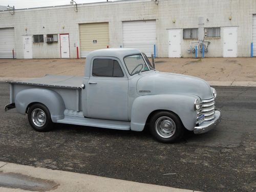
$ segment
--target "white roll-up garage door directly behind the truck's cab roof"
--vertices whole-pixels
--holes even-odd
[[[154,53],[156,20],[123,22],[123,47],[137,48],[147,56]]]

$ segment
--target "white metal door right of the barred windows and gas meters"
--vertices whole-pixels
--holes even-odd
[[[237,57],[238,55],[238,28],[223,28],[223,57]]]

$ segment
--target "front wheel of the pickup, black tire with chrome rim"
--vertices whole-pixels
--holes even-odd
[[[176,114],[162,111],[152,116],[150,132],[160,142],[173,143],[183,137],[184,126]]]

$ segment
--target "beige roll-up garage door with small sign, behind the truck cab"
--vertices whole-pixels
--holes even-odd
[[[109,46],[109,23],[79,24],[81,57]]]

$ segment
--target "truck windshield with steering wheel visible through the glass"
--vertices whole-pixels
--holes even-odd
[[[149,71],[141,54],[130,55],[124,57],[125,66],[130,75],[141,73],[143,71]],[[147,59],[148,60],[148,59]]]

